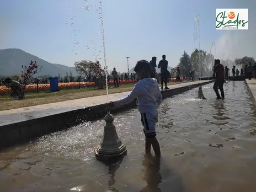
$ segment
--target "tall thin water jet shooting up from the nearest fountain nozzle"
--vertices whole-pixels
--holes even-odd
[[[108,88],[108,68],[106,66],[106,50],[105,50],[105,38],[104,38],[104,23],[103,23],[103,14],[102,14],[102,1],[99,1],[99,19],[102,24],[100,33],[102,34],[102,44],[103,44],[103,53],[104,53],[104,70],[106,76],[106,96],[108,97],[109,102],[109,88]]]

